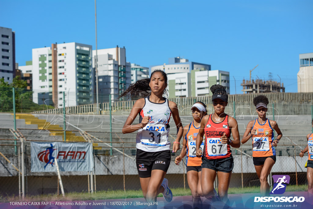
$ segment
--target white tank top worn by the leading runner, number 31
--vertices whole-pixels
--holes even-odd
[[[163,97],[164,98],[164,97]],[[163,103],[154,103],[145,97],[145,105],[140,115],[139,123],[142,118],[149,116],[149,123],[138,130],[136,136],[136,148],[146,152],[159,152],[170,150],[171,143],[168,141],[170,131],[169,121],[172,114],[168,106],[168,100],[164,98]]]

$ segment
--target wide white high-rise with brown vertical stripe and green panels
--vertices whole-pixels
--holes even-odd
[[[52,44],[32,50],[33,102],[69,106],[94,102],[92,46],[79,43]]]

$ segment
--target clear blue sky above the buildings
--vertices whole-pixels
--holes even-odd
[[[0,26],[16,32],[16,62],[33,48],[58,42],[95,49],[94,1],[0,0]],[[98,49],[126,47],[142,66],[181,56],[230,72],[231,94],[249,70],[260,79],[279,75],[297,91],[299,54],[313,52],[313,1],[97,1]]]

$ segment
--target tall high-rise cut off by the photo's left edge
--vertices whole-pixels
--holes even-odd
[[[0,27],[0,78],[12,83],[15,74],[15,32]]]

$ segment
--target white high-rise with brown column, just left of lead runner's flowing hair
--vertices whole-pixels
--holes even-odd
[[[131,63],[126,62],[126,49],[116,46],[110,49],[98,50],[98,88],[99,103],[116,101],[119,93],[125,91],[131,84]],[[96,50],[92,51],[93,67],[96,63]],[[123,100],[123,98],[121,98]]]

